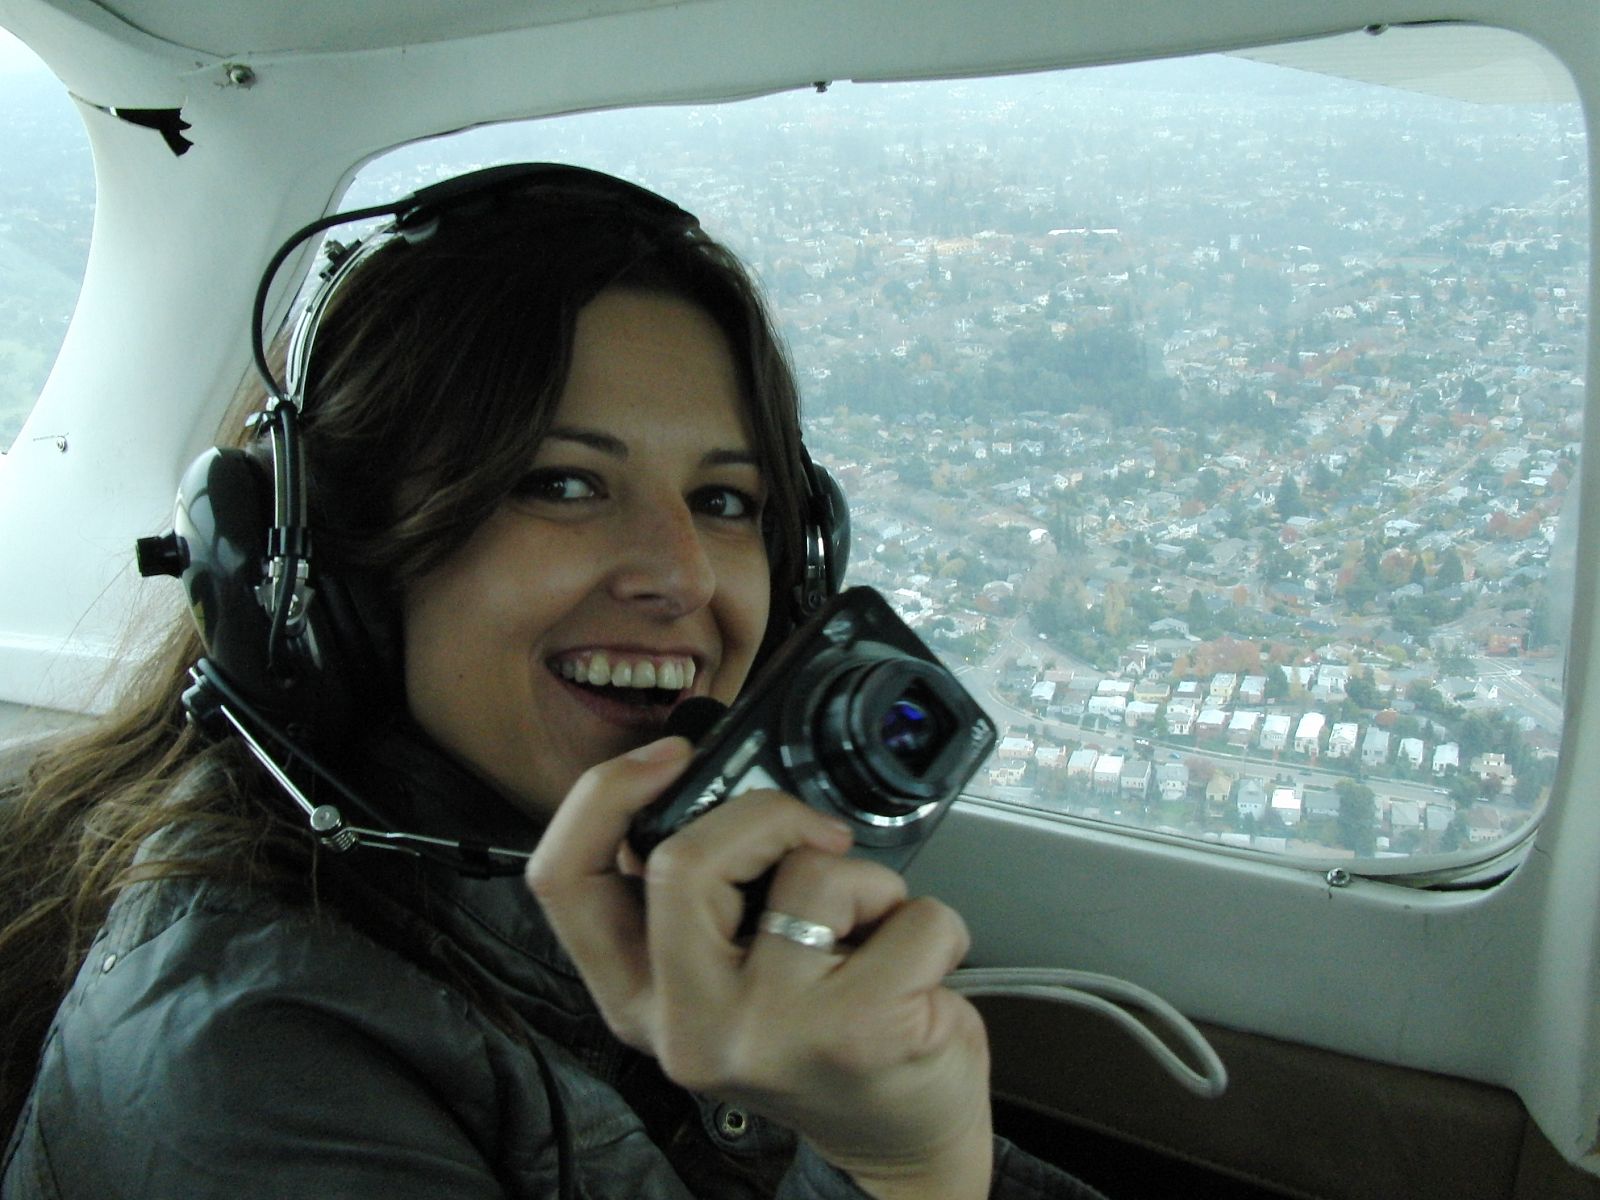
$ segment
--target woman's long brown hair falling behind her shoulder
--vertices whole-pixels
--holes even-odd
[[[792,370],[738,259],[698,227],[662,237],[538,189],[366,256],[323,315],[304,446],[323,570],[360,576],[371,621],[461,546],[526,472],[566,382],[579,309],[610,286],[682,296],[739,365],[770,493],[774,621],[802,558],[805,477]],[[246,442],[235,403],[224,440]],[[395,645],[395,630],[376,630]],[[106,717],[35,755],[0,803],[0,1130],[112,901],[182,874],[288,886],[310,843],[235,742],[206,742],[181,694],[203,646],[184,618]],[[395,664],[398,677],[398,664]],[[182,859],[136,854],[186,826]]]

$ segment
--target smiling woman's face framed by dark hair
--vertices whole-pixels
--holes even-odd
[[[600,293],[528,475],[405,595],[411,715],[549,816],[677,699],[738,694],[766,627],[765,496],[715,322]]]

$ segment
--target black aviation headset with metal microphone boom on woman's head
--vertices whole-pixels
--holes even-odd
[[[251,318],[251,352],[267,400],[251,424],[270,448],[270,469],[250,450],[213,448],[184,472],[173,530],[142,538],[139,573],[182,579],[205,656],[184,693],[190,720],[213,734],[240,734],[251,754],[304,810],[330,848],[381,845],[443,858],[467,874],[520,870],[528,851],[443,842],[418,834],[347,826],[331,805],[314,805],[296,784],[299,768],[331,786],[379,824],[382,818],[317,762],[312,744],[334,746],[370,718],[371,693],[398,694],[400,651],[392,621],[357,573],[314,560],[307,514],[306,450],[299,432],[312,347],[328,306],[352,272],[395,242],[422,243],[446,221],[469,221],[496,198],[547,195],[550,203],[592,205],[645,245],[698,230],[698,219],[654,192],[610,174],[558,163],[514,163],[424,187],[386,205],[334,213],[296,230],[262,272]],[[280,384],[266,350],[264,314],[283,262],[307,238],[334,226],[390,218],[349,246],[328,243],[330,264],[298,317]],[[650,254],[643,250],[640,258]],[[838,590],[850,554],[850,515],[834,478],[800,450],[803,563],[800,582],[774,587],[776,632],[802,624]],[[314,565],[315,563],[315,565]],[[374,688],[376,683],[376,688]]]

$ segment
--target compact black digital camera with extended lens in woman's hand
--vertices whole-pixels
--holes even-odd
[[[902,870],[995,744],[994,722],[878,592],[832,597],[699,741],[678,782],[629,827],[645,858],[725,800],[774,787]]]

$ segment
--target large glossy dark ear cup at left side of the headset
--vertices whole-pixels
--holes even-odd
[[[363,610],[374,605],[326,573],[310,581],[304,621],[269,662],[270,525],[272,480],[254,454],[208,450],[184,472],[173,533],[206,658],[261,712],[331,744],[392,702],[398,670],[368,634]],[[379,632],[389,626],[378,613],[370,619]]]

